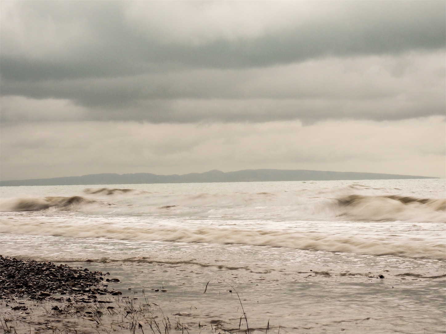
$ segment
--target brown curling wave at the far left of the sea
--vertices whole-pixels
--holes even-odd
[[[73,211],[94,204],[106,205],[102,201],[82,196],[19,198],[3,201],[1,211]]]

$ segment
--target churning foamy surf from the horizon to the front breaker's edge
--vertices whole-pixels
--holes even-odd
[[[91,188],[1,187],[1,232],[446,257],[442,180]]]

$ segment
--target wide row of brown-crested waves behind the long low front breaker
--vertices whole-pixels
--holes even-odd
[[[84,189],[91,197],[2,199],[1,211],[85,211],[215,220],[446,222],[446,199],[363,195],[380,189],[354,184],[335,190],[156,193],[128,188]],[[108,200],[112,200],[108,202]]]

